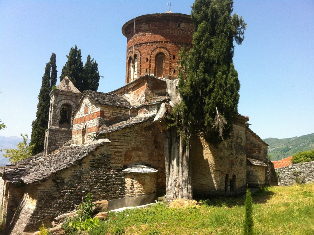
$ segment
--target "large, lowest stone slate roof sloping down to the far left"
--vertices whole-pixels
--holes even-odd
[[[67,146],[61,148],[55,154],[43,157],[43,153],[31,156],[15,164],[4,167],[6,180],[16,182],[22,180],[25,183],[38,183],[50,178],[66,168],[77,165],[84,157],[94,152],[108,139],[99,139],[85,145]]]

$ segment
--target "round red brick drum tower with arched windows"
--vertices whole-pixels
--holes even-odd
[[[126,84],[146,74],[173,79],[181,46],[192,48],[194,25],[186,14],[148,14],[129,20],[122,33],[127,37]]]

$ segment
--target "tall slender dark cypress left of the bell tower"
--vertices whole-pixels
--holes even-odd
[[[30,145],[35,145],[31,149],[33,155],[40,153],[44,150],[45,132],[48,128],[49,119],[49,93],[57,82],[57,65],[56,54],[52,52],[50,61],[46,63],[45,73],[41,80],[41,89],[38,95],[38,104],[36,119],[32,123],[32,134]]]

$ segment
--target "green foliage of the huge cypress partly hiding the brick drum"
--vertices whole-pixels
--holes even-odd
[[[232,130],[237,114],[240,83],[233,65],[233,41],[241,44],[246,23],[233,11],[231,0],[196,0],[191,18],[195,25],[193,48],[181,50],[177,107],[186,135],[202,132],[218,144]]]

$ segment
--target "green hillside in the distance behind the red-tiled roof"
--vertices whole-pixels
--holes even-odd
[[[314,133],[286,139],[267,138],[263,141],[269,145],[268,155],[272,161],[293,156],[300,151],[314,149]]]

